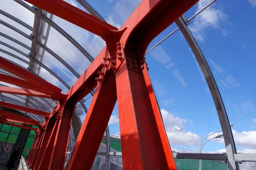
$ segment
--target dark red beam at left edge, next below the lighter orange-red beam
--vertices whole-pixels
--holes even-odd
[[[0,101],[0,106],[6,107],[6,108],[16,109],[18,111],[29,112],[29,113],[33,113],[33,114],[37,114],[37,115],[41,115],[41,116],[49,116],[50,115],[47,112],[38,111],[38,110],[35,110],[35,109],[26,108],[26,107],[23,107],[23,106],[14,105],[14,104],[11,104],[11,103],[1,102],[1,101]]]

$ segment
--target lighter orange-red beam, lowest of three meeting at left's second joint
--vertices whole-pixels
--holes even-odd
[[[19,94],[24,96],[35,96],[35,97],[43,97],[43,98],[49,98],[49,99],[51,98],[49,93],[44,94],[38,91],[29,90],[29,89],[11,88],[11,87],[5,87],[5,86],[0,86],[0,93]]]

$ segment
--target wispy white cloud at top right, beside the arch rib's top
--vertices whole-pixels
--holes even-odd
[[[211,0],[200,0],[195,13],[207,6],[210,2]],[[217,8],[213,4],[195,17],[194,22],[189,26],[189,29],[197,40],[204,42],[205,31],[207,28],[221,29],[222,35],[227,36],[227,31],[220,26],[221,22],[226,20],[227,15],[224,13],[223,9],[221,7]]]

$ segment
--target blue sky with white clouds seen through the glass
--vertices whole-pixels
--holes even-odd
[[[83,9],[76,0],[67,1]],[[140,0],[87,0],[87,2],[108,23],[120,27]],[[187,18],[192,17],[196,11],[204,8],[209,2],[210,0],[200,0],[184,15]],[[13,4],[4,7],[9,3]],[[9,6],[18,10],[8,8]],[[34,14],[22,8],[15,2],[3,0],[3,9],[1,9],[33,26]],[[243,153],[256,153],[255,14],[256,0],[236,0],[232,3],[228,0],[217,0],[202,14],[195,17],[189,25],[215,77],[230,122],[234,124],[233,135],[236,148]],[[1,19],[12,23],[4,16],[1,16]],[[105,42],[100,37],[82,28],[56,16],[52,20],[93,57],[96,57],[105,46]],[[15,25],[15,23],[12,24]],[[21,26],[16,27],[27,34],[31,33]],[[151,42],[148,49],[176,28],[176,24],[173,23]],[[1,32],[31,46],[29,40],[4,26],[1,26]],[[8,42],[2,37],[1,40]],[[14,42],[8,43],[27,53]],[[80,75],[90,64],[77,48],[53,28],[50,30],[46,46],[61,56]],[[1,48],[6,49],[3,45]],[[10,52],[17,54],[15,51]],[[20,56],[20,54],[17,55]],[[4,57],[11,59],[8,56]],[[177,31],[145,57],[171,145],[198,150],[195,142],[176,131],[174,126],[179,126],[183,132],[198,142],[201,141],[201,137],[221,127],[209,88],[189,45],[181,32]],[[72,86],[76,82],[76,77],[64,65],[54,60],[50,54],[44,54],[43,63],[64,79],[68,85]],[[24,63],[19,64],[27,67]],[[41,69],[40,76],[62,88],[64,93],[67,92],[67,88],[46,70]],[[91,97],[85,102],[87,107],[90,105],[90,100]],[[82,120],[84,116],[85,114],[80,116]],[[119,133],[117,105],[111,116],[109,128],[111,132]],[[205,152],[221,153],[225,151],[224,149],[223,139],[214,139],[204,147]]]

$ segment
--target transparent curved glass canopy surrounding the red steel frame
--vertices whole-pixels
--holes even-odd
[[[65,1],[120,28],[141,0]],[[200,0],[182,16],[218,86],[232,123],[236,151],[248,154],[256,153],[255,14],[255,0]],[[23,0],[0,2],[0,57],[61,88],[62,93],[67,93],[105,45],[101,37]],[[216,138],[222,131],[209,85],[176,23],[150,43],[145,58],[172,148],[189,153],[226,153],[224,139]],[[16,77],[2,68],[0,73]],[[6,82],[0,85],[19,88]],[[76,105],[79,126],[92,95]],[[0,100],[48,113],[57,105],[51,99],[4,93],[0,93]],[[44,122],[44,116],[24,114]],[[112,135],[106,133],[105,139],[120,136],[118,117],[116,104],[108,126]],[[69,152],[75,143],[76,127],[71,130]],[[205,137],[204,142],[209,143],[198,149]],[[106,148],[103,150],[106,152]],[[97,159],[99,163],[106,158]],[[112,156],[111,160],[122,167],[120,157]],[[108,166],[111,169],[114,165]],[[239,166],[243,168],[243,164]]]

